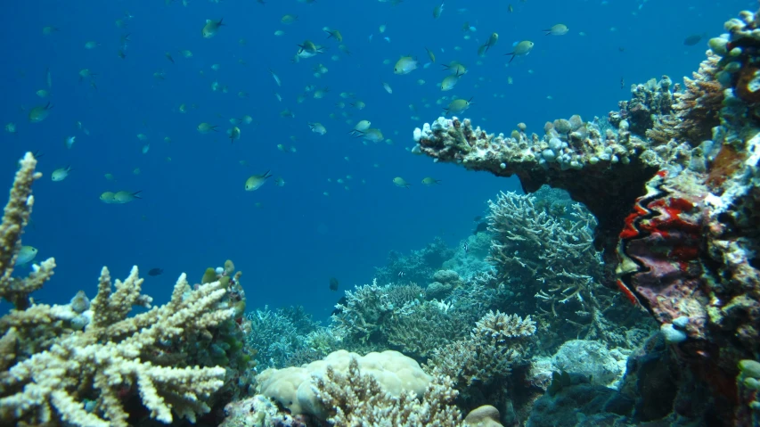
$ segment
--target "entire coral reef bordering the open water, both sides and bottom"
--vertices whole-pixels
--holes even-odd
[[[416,129],[414,152],[527,194],[498,194],[461,249],[392,253],[328,325],[244,314],[231,261],[160,307],[136,267],[36,302],[55,261],[13,275],[28,153],[0,225],[0,424],[760,425],[760,15],[725,29],[692,78],[607,118]]]

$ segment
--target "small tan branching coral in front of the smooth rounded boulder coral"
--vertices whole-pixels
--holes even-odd
[[[312,389],[330,408],[327,420],[333,425],[463,427],[462,414],[451,403],[457,395],[452,386],[451,379],[437,375],[420,400],[414,391],[394,395],[375,376],[363,374],[352,357],[346,374],[327,366],[324,375],[315,375]]]

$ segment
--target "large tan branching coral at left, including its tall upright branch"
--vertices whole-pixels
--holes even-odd
[[[0,226],[0,295],[14,304],[0,319],[0,423],[127,426],[131,414],[124,400],[137,391],[149,416],[162,423],[171,423],[172,413],[191,422],[208,413],[206,400],[225,384],[225,368],[162,361],[172,343],[200,341],[208,328],[233,317],[234,308],[220,302],[225,286],[215,281],[192,290],[183,274],[168,304],[127,317],[135,305],[150,307],[150,298],[140,293],[143,280],[133,267],[124,282],[111,283],[103,268],[89,310],[81,299],[34,303],[29,293],[53,274],[54,260],[34,266],[28,278],[11,275],[34,202],[31,184],[41,176],[35,165],[29,153],[20,161]]]

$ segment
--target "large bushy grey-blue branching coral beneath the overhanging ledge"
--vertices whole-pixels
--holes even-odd
[[[540,191],[538,193],[543,192]],[[488,260],[512,292],[534,296],[534,303],[511,299],[502,309],[538,312],[543,348],[583,336],[625,345],[605,317],[617,292],[601,285],[602,262],[593,247],[596,219],[580,204],[555,206],[553,215],[537,195],[501,193],[487,217],[494,235]]]

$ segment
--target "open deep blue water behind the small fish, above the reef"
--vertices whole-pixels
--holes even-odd
[[[233,259],[243,272],[249,308],[303,304],[320,317],[342,294],[329,291],[331,276],[344,287],[368,283],[372,267],[385,264],[388,250],[421,248],[436,235],[457,244],[470,233],[485,201],[499,190],[519,189],[514,178],[437,165],[407,152],[413,128],[441,115],[437,98],[473,97],[464,116],[490,132],[509,133],[523,121],[540,134],[546,120],[603,117],[628,99],[632,83],[663,74],[676,81],[691,75],[704,58],[707,38],[693,46],[683,45],[683,39],[702,33],[715,37],[723,21],[756,6],[748,1],[516,0],[509,13],[509,2],[501,0],[446,0],[434,20],[436,1],[413,0],[397,6],[370,0],[269,0],[266,5],[194,0],[187,7],[159,0],[6,3],[0,17],[0,120],[3,126],[16,123],[18,134],[0,135],[0,177],[10,185],[23,152],[44,153],[34,225],[23,242],[38,248],[37,261],[55,257],[58,264],[53,281],[37,298],[65,302],[80,289],[92,297],[102,266],[124,277],[137,265],[143,275],[151,267],[164,269],[143,285],[143,292],[162,302],[181,272],[198,281],[206,267]],[[467,10],[458,12],[461,8]],[[127,19],[125,11],[134,18]],[[281,24],[285,13],[298,15],[298,21]],[[226,25],[217,36],[201,37],[205,21],[220,18]],[[118,29],[118,19],[127,28]],[[477,29],[470,40],[462,38],[465,21]],[[568,35],[543,35],[542,29],[558,22],[568,25]],[[387,31],[380,35],[383,23]],[[44,36],[47,25],[60,31]],[[351,56],[325,38],[324,26],[340,30]],[[285,35],[275,37],[277,29]],[[499,43],[478,58],[478,45],[494,31]],[[127,33],[127,57],[120,59],[119,38]],[[329,47],[327,53],[291,63],[305,39]],[[522,39],[533,40],[534,51],[506,67],[509,57],[503,53]],[[86,50],[91,40],[101,45]],[[427,62],[426,46],[436,53],[436,64],[394,75],[401,55]],[[180,49],[191,50],[192,59]],[[331,60],[333,54],[339,61]],[[388,65],[382,63],[386,59]],[[453,60],[470,72],[453,91],[441,93],[437,83],[446,73],[440,64]],[[215,63],[220,70],[210,69]],[[322,78],[313,76],[318,63],[329,69]],[[47,102],[35,94],[46,88],[47,68],[53,77],[53,110],[41,123],[29,124],[29,109]],[[85,68],[97,74],[97,91],[79,81],[78,71]],[[275,85],[270,68],[282,78],[282,87]],[[153,77],[159,70],[166,74],[163,81]],[[215,78],[229,86],[228,94],[211,91]],[[419,86],[420,78],[427,83]],[[383,81],[393,94],[383,90]],[[296,103],[307,85],[329,86],[330,92],[322,100],[307,97]],[[239,91],[248,92],[249,99],[239,98]],[[334,106],[340,92],[354,92],[367,104],[364,111],[347,107],[351,119],[372,120],[372,127],[395,144],[364,145],[347,136],[353,125],[328,117],[344,111]],[[431,108],[422,107],[423,98]],[[181,103],[188,105],[186,114],[177,111]],[[418,107],[416,113],[410,103]],[[280,117],[286,107],[295,119]],[[257,124],[240,125],[241,140],[234,144],[224,130],[217,135],[196,130],[203,121],[226,129],[228,119],[244,114]],[[420,119],[410,119],[414,114]],[[78,120],[90,135],[75,127]],[[323,123],[327,135],[311,133],[310,121]],[[151,144],[146,154],[136,136],[140,133]],[[77,142],[68,150],[63,141],[70,135]],[[165,136],[172,142],[164,142]],[[280,152],[277,144],[295,145],[298,152]],[[73,170],[67,179],[50,180],[54,169],[68,165]],[[254,193],[243,190],[249,176],[267,169],[286,185],[268,182]],[[116,181],[106,180],[106,173]],[[347,175],[353,177],[348,191],[335,183]],[[393,185],[397,176],[411,188]],[[440,179],[442,185],[425,187],[423,177]],[[99,200],[102,192],[119,190],[142,191],[143,199],[120,205]]]

